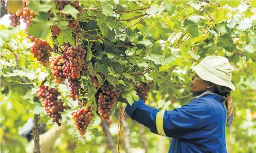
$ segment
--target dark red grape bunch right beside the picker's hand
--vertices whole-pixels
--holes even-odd
[[[98,102],[98,113],[103,121],[110,119],[111,108],[116,104],[118,97],[118,92],[111,85],[105,84],[98,90],[96,101]]]

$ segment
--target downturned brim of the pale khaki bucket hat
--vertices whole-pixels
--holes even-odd
[[[194,67],[191,67],[190,69],[192,69],[203,80],[210,81],[220,86],[229,87],[233,91],[236,90],[234,84],[231,81],[223,80],[222,78],[208,71],[207,69],[205,69],[203,66],[199,64]]]

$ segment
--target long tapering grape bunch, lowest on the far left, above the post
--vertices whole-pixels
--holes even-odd
[[[45,107],[48,116],[52,117],[52,122],[56,122],[58,126],[61,126],[59,120],[61,120],[61,113],[64,111],[62,100],[58,99],[61,93],[57,88],[49,88],[48,86],[41,86],[36,90],[37,97],[41,97],[40,101]]]

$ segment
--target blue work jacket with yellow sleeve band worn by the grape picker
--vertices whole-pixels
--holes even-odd
[[[169,152],[225,153],[224,100],[222,96],[211,94],[172,111],[159,111],[139,99],[132,106],[127,104],[125,112],[153,133],[173,138]]]

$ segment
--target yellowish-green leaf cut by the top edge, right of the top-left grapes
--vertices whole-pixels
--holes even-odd
[[[47,12],[50,9],[55,9],[55,7],[53,1],[44,1],[44,4],[41,4],[40,1],[30,1],[30,9],[35,13]]]

